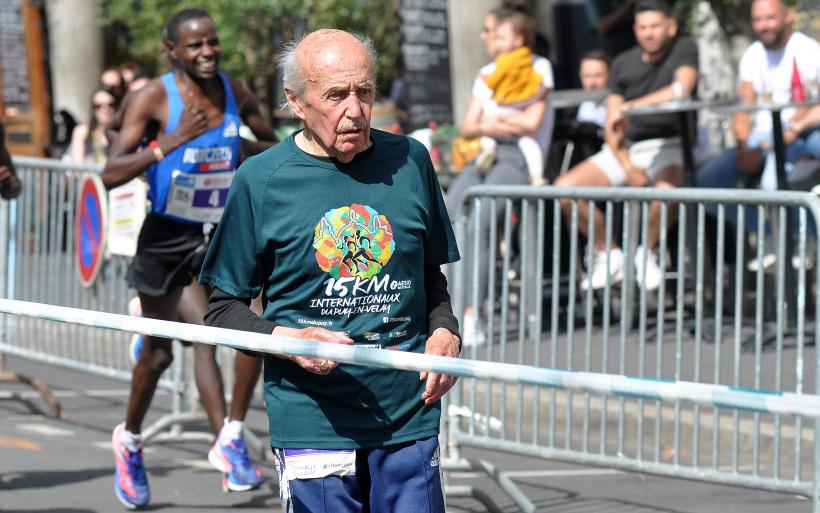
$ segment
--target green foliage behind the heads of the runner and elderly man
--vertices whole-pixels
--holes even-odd
[[[398,0],[98,0],[111,64],[136,61],[167,69],[161,34],[186,7],[213,16],[222,43],[223,71],[253,88],[271,108],[277,101],[276,57],[284,41],[306,30],[335,27],[368,35],[379,53],[379,83],[388,84],[401,51]]]

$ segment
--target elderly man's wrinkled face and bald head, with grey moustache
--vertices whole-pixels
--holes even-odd
[[[297,50],[307,77],[304,97],[289,92],[288,101],[305,123],[311,152],[350,162],[370,144],[376,89],[370,57],[349,34],[311,37]]]

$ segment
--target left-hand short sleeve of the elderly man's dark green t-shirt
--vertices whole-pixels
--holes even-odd
[[[207,283],[238,298],[252,298],[262,288],[259,251],[256,241],[259,229],[253,192],[261,184],[251,183],[254,173],[249,159],[234,177],[222,219],[208,245],[199,274]]]

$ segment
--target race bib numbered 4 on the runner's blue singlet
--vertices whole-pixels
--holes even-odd
[[[235,171],[183,173],[174,171],[165,213],[196,223],[218,223]]]

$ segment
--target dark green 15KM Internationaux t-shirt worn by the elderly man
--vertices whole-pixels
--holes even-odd
[[[458,260],[427,150],[373,130],[348,164],[293,136],[248,159],[231,185],[200,280],[241,298],[264,289],[263,317],[345,331],[356,344],[423,353],[425,265]],[[329,375],[265,359],[271,445],[378,447],[438,433],[440,405],[417,372],[342,364]]]

